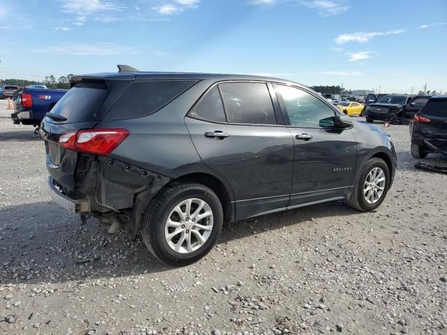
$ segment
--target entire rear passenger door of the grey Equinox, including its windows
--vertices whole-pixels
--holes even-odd
[[[225,82],[210,88],[185,118],[200,158],[233,188],[236,218],[286,209],[293,139],[272,87]]]

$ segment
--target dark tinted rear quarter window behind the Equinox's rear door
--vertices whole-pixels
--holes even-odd
[[[195,80],[134,82],[108,112],[106,119],[131,119],[152,114],[168,105],[195,83]]]

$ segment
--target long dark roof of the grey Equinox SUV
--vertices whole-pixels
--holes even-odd
[[[238,75],[238,74],[222,74],[222,73],[184,73],[184,72],[120,72],[120,73],[93,73],[87,75],[75,75],[72,82],[78,82],[82,79],[103,79],[103,80],[253,80],[280,82],[284,84],[295,84],[304,86],[298,82],[284,80],[275,77],[263,77],[259,75]]]

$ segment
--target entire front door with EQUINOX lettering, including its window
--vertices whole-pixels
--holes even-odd
[[[333,128],[335,110],[311,92],[279,84],[275,90],[295,142],[289,207],[343,198],[356,168],[352,131]]]

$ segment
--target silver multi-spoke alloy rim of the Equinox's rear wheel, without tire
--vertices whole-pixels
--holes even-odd
[[[191,198],[179,202],[168,216],[165,239],[177,253],[192,253],[210,238],[213,213],[207,202]]]

